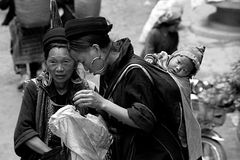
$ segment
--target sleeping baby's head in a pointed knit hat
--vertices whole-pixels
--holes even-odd
[[[192,77],[200,68],[205,46],[177,50],[168,61],[168,70],[179,77]]]

